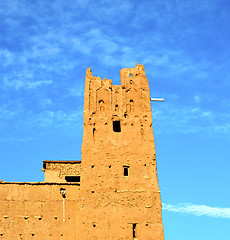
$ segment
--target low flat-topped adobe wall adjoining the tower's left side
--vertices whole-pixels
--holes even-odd
[[[0,239],[78,239],[79,190],[76,184],[0,183]]]

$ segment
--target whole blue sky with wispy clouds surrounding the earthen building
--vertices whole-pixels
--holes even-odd
[[[145,65],[167,240],[229,240],[229,0],[0,2],[0,179],[81,159],[85,71]]]

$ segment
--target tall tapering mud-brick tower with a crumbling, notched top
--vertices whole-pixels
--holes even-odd
[[[120,77],[86,72],[79,239],[163,240],[148,79],[139,64]]]

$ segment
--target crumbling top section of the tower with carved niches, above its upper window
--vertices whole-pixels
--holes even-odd
[[[86,72],[84,117],[145,115],[151,112],[148,79],[143,65],[120,71],[121,85]]]

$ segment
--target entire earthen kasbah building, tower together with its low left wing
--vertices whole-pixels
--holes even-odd
[[[81,161],[44,161],[44,182],[0,183],[0,239],[163,240],[148,80],[86,72]]]

